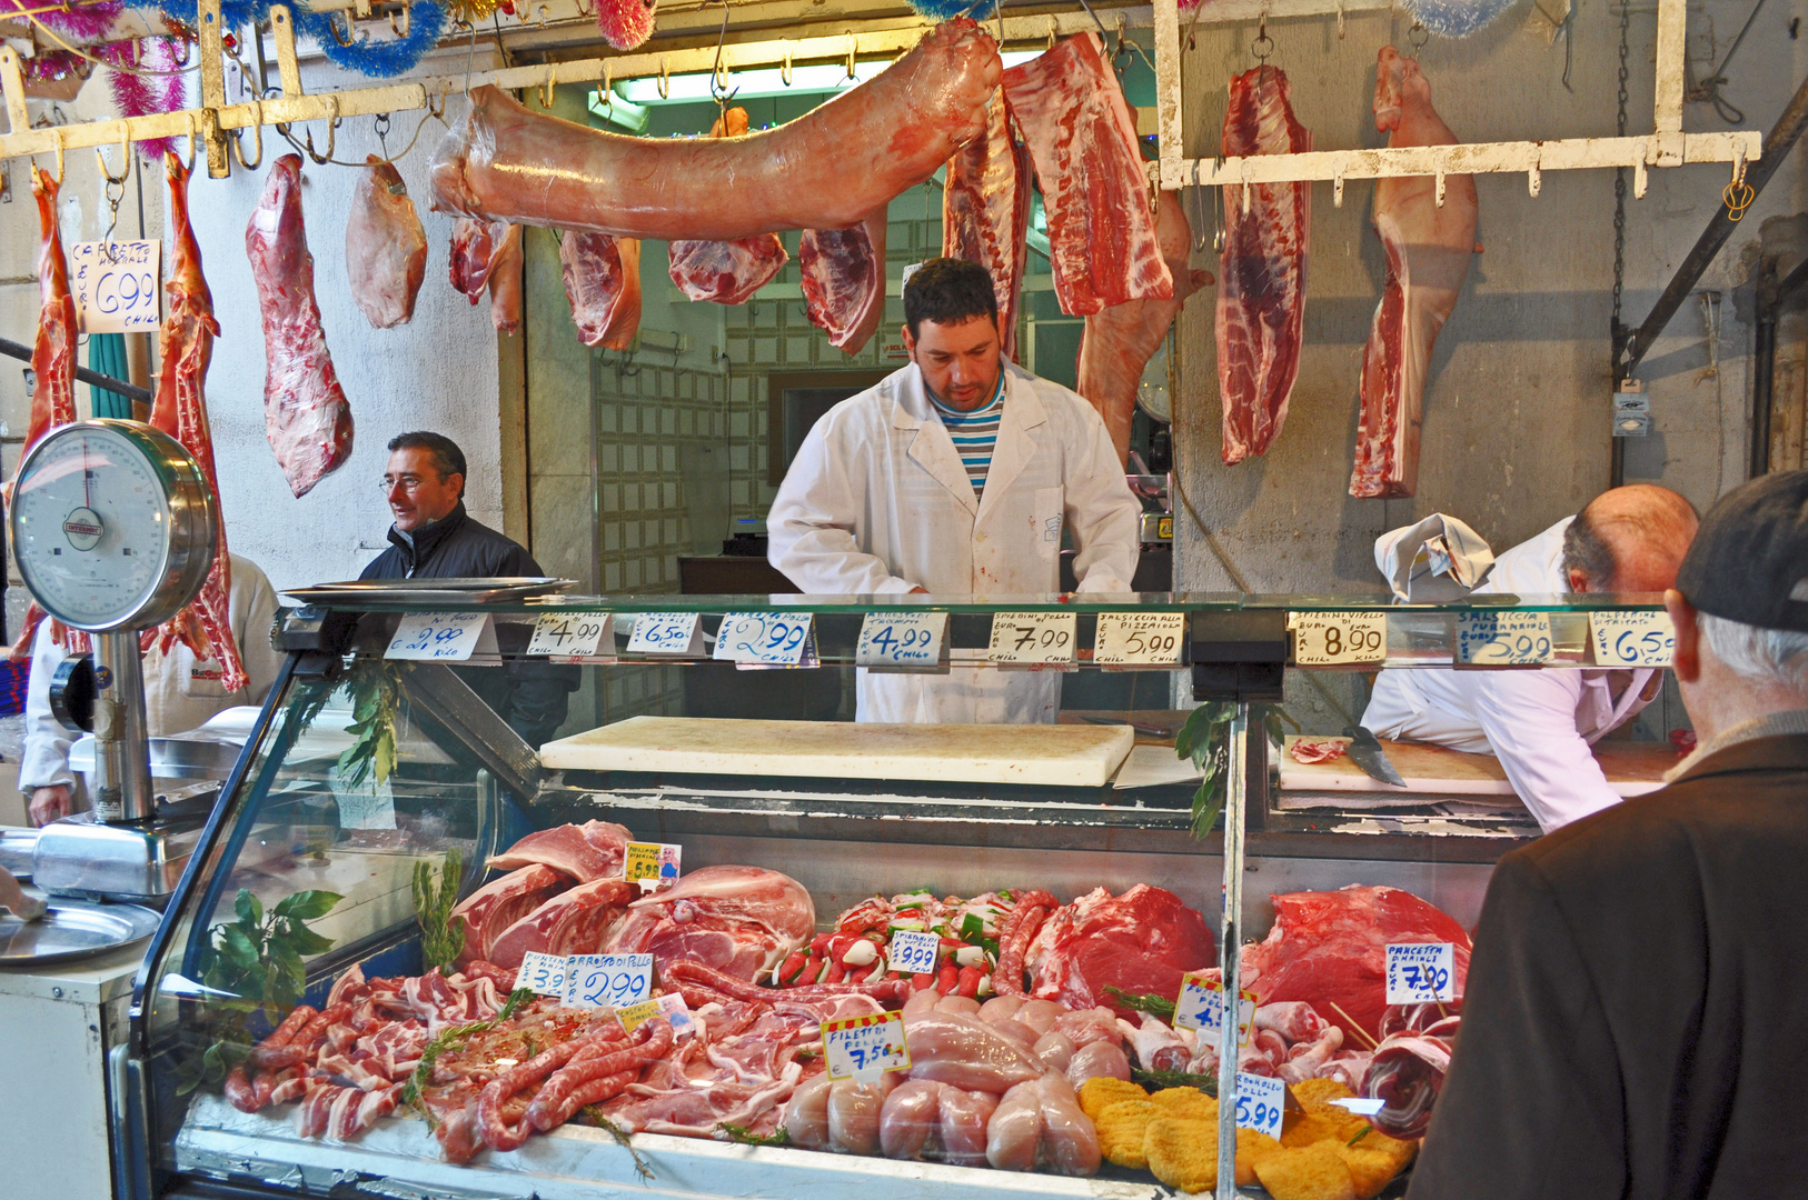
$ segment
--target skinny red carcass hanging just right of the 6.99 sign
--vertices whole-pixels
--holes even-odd
[[[219,475],[213,470],[213,430],[208,427],[206,378],[213,358],[213,338],[221,325],[213,318],[213,293],[201,275],[201,244],[188,220],[188,168],[174,152],[165,152],[170,177],[170,226],[175,231],[170,255],[170,282],[163,286],[163,329],[157,333],[157,396],[150,423],[183,443],[208,477],[208,490],[219,504]],[[213,535],[213,567],[201,593],[157,629],[141,636],[168,654],[177,638],[195,660],[213,660],[221,667],[221,687],[237,692],[251,680],[231,636],[231,558],[226,555],[226,522]]]

